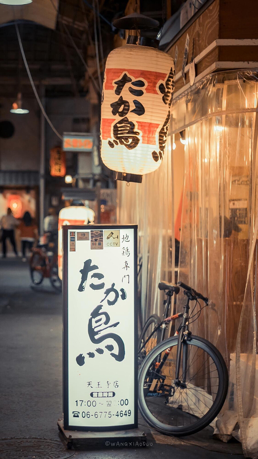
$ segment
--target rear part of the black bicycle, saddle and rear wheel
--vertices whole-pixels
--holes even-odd
[[[159,290],[167,290],[167,300],[164,300],[165,311],[164,319],[168,318],[168,313],[171,307],[171,300],[174,293],[177,295],[180,291],[177,285],[168,284],[162,281],[158,284]],[[168,325],[160,319],[157,314],[152,314],[145,322],[138,341],[138,368],[142,364],[146,355],[161,341],[164,341],[166,329]]]

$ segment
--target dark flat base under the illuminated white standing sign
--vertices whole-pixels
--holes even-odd
[[[84,445],[94,445],[102,443],[103,445],[107,445],[107,440],[111,442],[130,442],[130,441],[138,441],[139,446],[145,447],[146,446],[146,433],[142,431],[142,429],[130,429],[130,430],[122,430],[122,431],[109,431],[109,432],[92,432],[92,431],[68,431],[65,430],[63,427],[63,420],[59,419],[57,421],[58,430],[62,435],[63,441],[66,443],[67,449],[71,449],[76,442]],[[143,443],[142,445],[140,443]],[[101,444],[101,446],[102,446]],[[114,445],[116,446],[116,445]],[[126,445],[125,445],[126,446]]]

